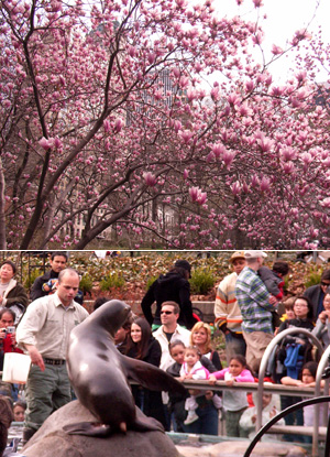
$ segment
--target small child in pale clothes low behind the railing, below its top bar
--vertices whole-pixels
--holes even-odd
[[[264,383],[264,384],[271,384],[268,383]],[[242,414],[242,417],[240,418],[240,427],[248,433],[248,437],[250,439],[254,438],[256,432],[255,432],[255,422],[256,422],[256,411],[257,411],[257,402],[258,402],[258,398],[257,398],[257,393],[254,392],[253,395],[253,403],[254,406],[252,407],[248,407],[248,410],[244,411],[244,413]],[[278,414],[278,404],[279,404],[279,399],[278,395],[272,395],[271,393],[263,393],[263,412],[262,412],[262,425],[265,425],[271,418],[273,418],[274,416],[276,416],[276,414]],[[284,418],[280,418],[279,421],[276,422],[276,425],[284,425]],[[265,434],[262,437],[262,442],[267,442],[267,440],[273,440],[273,439],[279,439],[278,436],[276,435],[271,435],[271,434]]]

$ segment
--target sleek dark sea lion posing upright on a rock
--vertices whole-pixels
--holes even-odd
[[[185,388],[165,371],[125,357],[114,346],[114,335],[131,314],[124,302],[105,303],[70,334],[67,351],[68,377],[80,403],[99,421],[65,427],[70,434],[107,436],[127,429],[164,431],[152,417],[136,413],[128,379],[151,390]]]

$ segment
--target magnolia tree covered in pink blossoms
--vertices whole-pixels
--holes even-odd
[[[257,63],[260,25],[211,1],[1,0],[0,248],[84,249],[111,227],[168,248],[327,241],[328,54],[309,37],[304,59],[307,36]]]

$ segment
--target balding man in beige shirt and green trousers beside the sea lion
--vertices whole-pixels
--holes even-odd
[[[66,350],[72,329],[88,317],[74,301],[78,287],[75,270],[61,271],[56,292],[32,302],[18,326],[16,341],[32,361],[25,387],[24,444],[53,411],[72,400]]]

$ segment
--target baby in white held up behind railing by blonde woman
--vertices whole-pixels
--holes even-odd
[[[185,360],[180,369],[180,380],[185,379],[201,379],[209,378],[209,371],[200,363],[201,352],[196,346],[189,346],[185,351]],[[193,424],[198,421],[196,409],[198,407],[196,395],[190,395],[186,400],[185,410],[188,411],[187,418],[184,421],[185,425]]]

